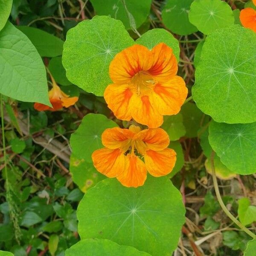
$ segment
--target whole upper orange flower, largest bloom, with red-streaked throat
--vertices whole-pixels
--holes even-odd
[[[109,67],[113,84],[104,93],[108,107],[119,119],[159,127],[163,115],[180,111],[188,93],[177,70],[175,55],[166,44],[151,51],[138,44],[124,49]]]

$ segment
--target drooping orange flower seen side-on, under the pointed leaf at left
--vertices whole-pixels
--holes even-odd
[[[56,111],[63,107],[68,108],[71,105],[74,105],[78,101],[78,97],[69,97],[66,93],[64,93],[60,87],[56,84],[55,80],[51,76],[52,79],[52,89],[49,90],[48,95],[50,102],[52,104],[52,108],[41,104],[41,103],[35,103],[34,108],[38,111]]]

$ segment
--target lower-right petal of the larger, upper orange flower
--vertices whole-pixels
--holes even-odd
[[[186,100],[188,89],[180,76],[174,76],[165,83],[154,85],[153,93],[149,95],[154,109],[162,115],[175,115]]]

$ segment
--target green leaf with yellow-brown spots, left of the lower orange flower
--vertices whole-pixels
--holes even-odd
[[[100,180],[106,178],[105,175],[102,175],[95,169],[93,163],[88,163],[85,162],[84,159],[76,158],[73,154],[70,156],[70,172],[73,181],[83,192],[86,192]]]

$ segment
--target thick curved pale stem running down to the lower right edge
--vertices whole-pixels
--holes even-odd
[[[253,233],[252,233],[250,230],[248,230],[246,227],[244,227],[244,225],[241,224],[241,222],[238,221],[238,220],[231,214],[231,212],[227,209],[227,207],[225,206],[225,204],[224,204],[223,201],[222,201],[221,194],[220,194],[220,191],[219,191],[219,189],[218,189],[217,177],[216,177],[216,174],[215,174],[214,154],[215,154],[215,152],[212,151],[212,154],[211,154],[211,168],[212,168],[213,186],[214,186],[214,189],[215,189],[215,193],[216,193],[218,202],[219,202],[221,208],[223,209],[223,211],[226,213],[226,215],[227,215],[237,226],[239,226],[239,227],[241,228],[241,230],[243,230],[245,233],[247,233],[247,234],[248,234],[249,236],[251,236],[253,239],[256,239],[256,235],[253,234]]]

